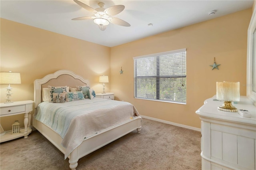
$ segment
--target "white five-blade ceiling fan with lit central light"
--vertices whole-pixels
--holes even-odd
[[[115,5],[111,6],[109,8],[104,8],[105,4],[103,2],[98,3],[100,8],[92,8],[78,0],[74,0],[78,5],[80,5],[82,8],[88,10],[89,12],[92,12],[94,16],[83,16],[78,18],[73,18],[72,20],[93,20],[95,24],[98,24],[100,30],[104,31],[106,30],[107,25],[111,22],[112,24],[117,24],[119,26],[125,26],[130,27],[131,25],[119,18],[115,18],[116,14],[119,14],[124,10],[124,5]]]

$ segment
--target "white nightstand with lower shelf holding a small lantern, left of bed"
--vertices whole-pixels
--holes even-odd
[[[31,128],[28,127],[30,125],[31,115],[29,116],[28,113],[33,111],[33,103],[34,101],[27,100],[27,101],[14,101],[13,103],[0,103],[0,117],[12,116],[12,115],[24,115],[24,129],[20,129],[20,133],[12,134],[12,131],[6,132],[0,138],[0,142],[5,142],[8,140],[20,138],[24,136],[24,138],[28,137],[28,134],[31,133]]]

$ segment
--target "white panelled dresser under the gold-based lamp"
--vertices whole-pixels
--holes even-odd
[[[248,110],[251,117],[238,112],[217,109],[223,102],[216,96],[204,101],[196,111],[201,121],[202,170],[255,170],[256,168],[256,107],[241,96],[237,109]]]

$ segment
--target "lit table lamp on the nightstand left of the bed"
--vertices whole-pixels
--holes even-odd
[[[5,88],[7,89],[7,93],[6,94],[6,102],[4,103],[13,103],[13,101],[11,101],[11,97],[12,97],[12,88],[11,88],[11,84],[20,84],[20,73],[13,73],[11,71],[9,72],[0,72],[0,84],[8,84],[8,87]]]

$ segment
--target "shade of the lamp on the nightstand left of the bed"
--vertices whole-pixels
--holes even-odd
[[[20,73],[0,72],[0,84],[20,84]]]

